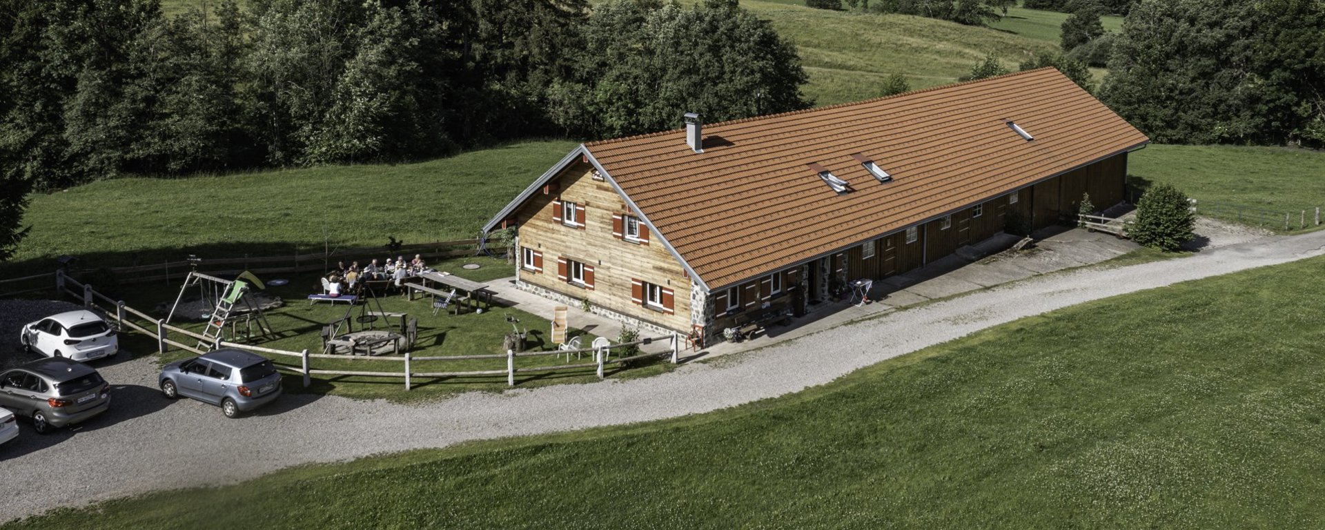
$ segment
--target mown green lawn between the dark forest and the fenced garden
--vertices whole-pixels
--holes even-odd
[[[531,140],[412,164],[123,178],[33,195],[32,232],[0,277],[48,272],[61,254],[95,268],[469,238],[574,146]]]

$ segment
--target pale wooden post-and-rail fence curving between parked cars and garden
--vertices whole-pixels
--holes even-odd
[[[56,286],[57,286],[56,289],[58,292],[61,292],[61,294],[68,294],[70,297],[74,297],[74,298],[80,299],[83,303],[85,307],[101,310],[102,313],[106,314],[107,318],[110,318],[110,319],[114,321],[115,326],[119,330],[136,331],[136,333],[140,333],[143,335],[155,338],[156,339],[156,350],[159,352],[162,352],[162,354],[170,351],[171,347],[187,350],[187,351],[191,351],[191,352],[195,352],[195,354],[199,354],[199,355],[207,352],[207,350],[199,348],[196,343],[191,344],[191,343],[186,343],[186,342],[179,342],[179,341],[171,339],[171,335],[176,334],[175,337],[184,335],[184,337],[189,337],[189,338],[192,338],[195,341],[201,341],[201,342],[212,343],[217,348],[220,348],[220,347],[240,348],[240,350],[252,351],[252,352],[257,352],[257,354],[266,354],[265,356],[268,356],[268,358],[272,358],[273,355],[285,356],[285,358],[298,358],[299,359],[299,364],[298,366],[292,364],[293,359],[290,360],[290,363],[273,362],[273,364],[276,364],[277,368],[284,370],[286,372],[293,372],[293,374],[302,375],[303,376],[303,386],[305,387],[313,384],[313,376],[314,375],[330,375],[330,376],[346,376],[347,375],[347,376],[366,376],[366,378],[400,378],[400,379],[404,379],[404,384],[405,384],[405,390],[407,391],[412,388],[415,378],[441,379],[441,378],[465,378],[465,376],[506,375],[506,384],[515,386],[515,374],[547,372],[547,371],[556,371],[556,370],[595,368],[595,371],[598,374],[598,378],[599,379],[604,379],[606,378],[604,368],[607,366],[610,366],[610,364],[624,364],[624,363],[629,363],[629,362],[633,362],[633,360],[641,360],[641,359],[648,359],[648,358],[660,358],[662,355],[669,355],[669,360],[673,364],[676,364],[676,363],[680,362],[678,356],[680,356],[680,351],[681,351],[681,342],[680,342],[681,338],[680,338],[680,335],[677,335],[676,331],[673,331],[670,335],[659,335],[659,337],[652,337],[652,338],[644,338],[644,339],[640,339],[640,341],[632,341],[632,342],[624,342],[624,343],[619,343],[619,344],[611,344],[611,346],[607,346],[604,348],[592,348],[592,347],[588,347],[588,348],[579,348],[579,350],[551,350],[551,351],[523,351],[523,352],[515,352],[514,350],[506,350],[505,354],[484,354],[484,355],[413,356],[412,354],[405,352],[404,356],[371,356],[371,355],[370,356],[358,356],[358,355],[310,354],[307,348],[305,348],[302,351],[278,350],[278,348],[269,348],[269,347],[262,347],[262,346],[235,343],[235,342],[224,341],[224,339],[220,339],[220,338],[215,338],[215,337],[205,337],[205,335],[203,335],[200,333],[186,330],[186,329],[179,327],[179,326],[172,326],[172,325],[166,323],[164,319],[152,318],[147,313],[139,311],[139,310],[136,310],[134,307],[130,307],[130,306],[125,305],[123,301],[111,299],[110,297],[106,297],[106,295],[95,292],[91,285],[89,285],[89,284],[81,284],[77,280],[65,276],[64,272],[56,272],[54,277],[56,277]],[[105,305],[99,305],[102,302]],[[142,319],[142,321],[146,321],[146,322],[152,322],[152,323],[155,323],[155,326],[148,327],[147,325],[136,323],[136,322],[132,321],[132,318],[138,318],[138,319]],[[649,344],[649,343],[660,342],[660,341],[668,341],[668,344],[670,346],[669,351],[666,351],[666,352],[648,352],[648,354],[641,352],[641,354],[636,354],[636,355],[617,356],[616,359],[611,359],[612,350],[616,350],[616,348],[628,348],[628,347],[637,347],[637,346]],[[570,354],[576,354],[576,356],[579,354],[590,354],[592,356],[594,362],[591,362],[591,363],[570,363]],[[517,367],[515,366],[515,359],[517,358],[533,358],[533,356],[547,356],[547,355],[566,355],[566,359],[567,359],[568,364],[529,366],[529,367]],[[400,367],[400,370],[396,370],[396,371],[319,370],[319,368],[313,368],[313,366],[311,366],[313,364],[313,359],[339,359],[339,360],[352,359],[352,360],[378,362],[378,363],[391,363],[391,362],[395,362],[395,363],[403,363],[403,366]],[[505,370],[472,370],[472,371],[452,371],[452,372],[416,372],[416,371],[412,370],[413,368],[413,363],[416,363],[416,362],[428,362],[428,360],[439,360],[439,362],[445,362],[445,360],[476,360],[476,359],[492,359],[492,360],[506,359],[506,367],[505,367]]]

